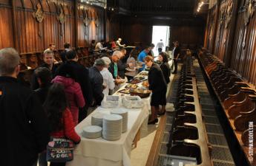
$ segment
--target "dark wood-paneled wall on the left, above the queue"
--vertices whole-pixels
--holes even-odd
[[[103,39],[105,10],[79,3],[76,10],[75,5],[71,0],[0,0],[0,49],[42,52],[50,43],[63,49],[65,42],[74,47]],[[34,17],[40,9],[42,22]]]

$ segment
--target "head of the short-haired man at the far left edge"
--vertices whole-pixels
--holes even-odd
[[[0,49],[0,75],[12,75],[20,59],[16,49]]]

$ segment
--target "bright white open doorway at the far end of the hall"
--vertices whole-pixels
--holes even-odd
[[[163,41],[163,51],[165,51],[165,46],[169,44],[169,36],[170,36],[170,27],[169,26],[153,26],[152,32],[152,44],[154,47],[154,56],[158,55],[157,44],[162,39]]]

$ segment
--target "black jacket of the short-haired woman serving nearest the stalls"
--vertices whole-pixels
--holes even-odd
[[[153,63],[148,72],[148,89],[153,92],[163,91],[167,88],[163,72],[156,63]]]

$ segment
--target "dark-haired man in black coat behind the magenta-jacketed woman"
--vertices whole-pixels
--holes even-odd
[[[88,107],[91,106],[93,101],[93,91],[91,89],[91,83],[89,80],[89,71],[85,66],[79,64],[78,56],[74,50],[70,50],[66,53],[67,64],[73,69],[74,76],[72,77],[81,86],[82,94],[85,98],[85,107],[79,108],[79,122],[85,119],[87,116]],[[58,75],[58,70],[56,75]]]

